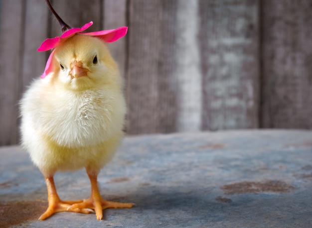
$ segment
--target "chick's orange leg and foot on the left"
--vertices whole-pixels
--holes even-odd
[[[69,207],[72,204],[80,203],[80,202],[82,202],[82,200],[78,200],[78,201],[60,200],[60,198],[58,197],[57,192],[56,192],[53,176],[52,177],[45,177],[45,181],[46,181],[46,186],[47,186],[47,190],[48,190],[49,207],[45,211],[45,213],[43,213],[40,216],[39,220],[45,220],[46,218],[50,217],[51,215],[53,215],[54,213],[57,213],[57,212],[80,212],[80,213],[84,213],[84,214],[89,214],[89,213],[93,212],[90,209],[84,209],[84,210],[69,209]]]

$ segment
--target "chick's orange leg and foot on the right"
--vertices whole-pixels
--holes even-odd
[[[135,204],[133,203],[117,203],[112,201],[104,200],[99,192],[97,175],[89,174],[91,182],[91,196],[89,199],[84,200],[82,203],[74,204],[70,209],[94,209],[97,220],[103,219],[103,210],[107,208],[132,208]]]

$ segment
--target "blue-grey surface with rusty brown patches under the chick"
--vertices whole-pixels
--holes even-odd
[[[57,173],[64,200],[88,198],[84,170]],[[312,131],[235,130],[126,137],[99,175],[101,194],[132,209],[47,207],[41,173],[18,146],[0,148],[0,227],[312,227]]]

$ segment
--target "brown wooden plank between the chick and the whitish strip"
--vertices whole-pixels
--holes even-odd
[[[130,1],[128,133],[176,130],[175,11],[176,0]]]

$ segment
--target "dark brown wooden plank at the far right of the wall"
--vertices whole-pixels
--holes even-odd
[[[262,127],[312,128],[312,1],[263,1]]]

